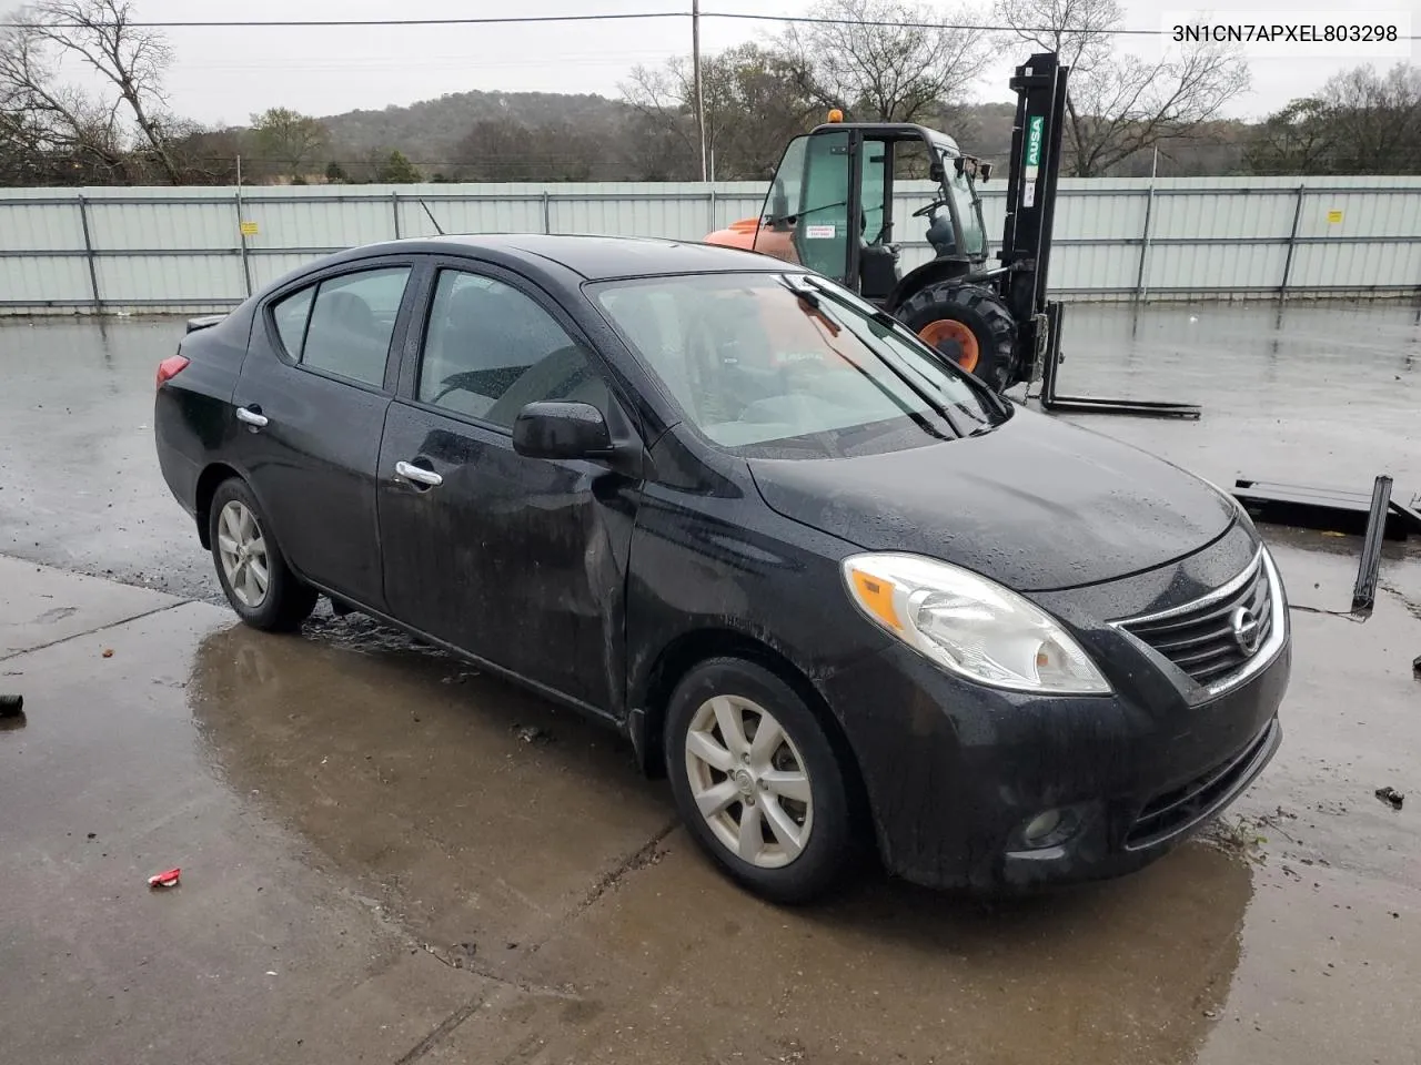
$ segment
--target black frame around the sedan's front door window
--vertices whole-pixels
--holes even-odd
[[[395,390],[395,399],[408,403],[416,410],[425,410],[442,417],[450,417],[456,422],[475,426],[485,432],[497,433],[499,436],[507,437],[510,443],[513,440],[513,426],[502,426],[497,422],[490,422],[486,417],[479,417],[477,415],[469,415],[463,410],[455,410],[448,406],[441,406],[439,403],[429,403],[419,399],[419,373],[423,371],[425,365],[425,342],[428,339],[429,322],[433,314],[435,297],[439,294],[439,274],[446,270],[462,274],[473,274],[476,277],[486,277],[490,281],[499,281],[500,284],[506,284],[509,288],[513,288],[531,300],[537,307],[546,311],[554,322],[557,322],[558,328],[561,328],[574,344],[587,352],[588,362],[593,369],[601,375],[604,383],[607,385],[608,395],[622,408],[622,410],[627,409],[625,400],[620,395],[621,389],[617,382],[617,376],[610,371],[608,361],[597,349],[597,345],[588,339],[587,331],[583,329],[573,315],[563,308],[557,297],[523,274],[514,273],[513,270],[499,266],[497,263],[490,263],[482,258],[453,257],[438,257],[428,263],[428,273],[425,274],[421,285],[419,304],[411,318],[409,329],[405,338],[405,349],[401,356],[401,372]],[[603,415],[607,416],[607,412],[603,412]]]

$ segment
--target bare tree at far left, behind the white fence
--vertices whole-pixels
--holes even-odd
[[[104,89],[61,81],[64,60],[88,67]],[[163,97],[169,61],[162,36],[134,26],[128,0],[40,0],[0,36],[0,108],[37,151],[77,153],[115,172],[126,172],[136,152],[176,185],[183,168],[171,142],[186,131]]]

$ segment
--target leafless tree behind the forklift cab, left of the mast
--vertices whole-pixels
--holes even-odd
[[[971,24],[965,10],[904,0],[821,0],[811,17],[828,21],[791,26],[782,47],[810,99],[855,118],[932,118],[944,104],[959,102],[992,60],[986,31],[939,28]]]

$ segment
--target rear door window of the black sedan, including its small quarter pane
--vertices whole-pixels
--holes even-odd
[[[304,366],[378,388],[408,280],[409,267],[387,267],[293,293],[271,308],[281,345]]]

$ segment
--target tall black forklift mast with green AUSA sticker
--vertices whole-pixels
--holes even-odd
[[[1034,359],[1030,379],[1057,358],[1060,305],[1046,300],[1060,178],[1066,78],[1054,53],[1037,53],[1016,68],[1016,121],[1006,182],[1006,227],[999,257],[1006,267],[1002,298],[1017,322],[1017,351]]]

